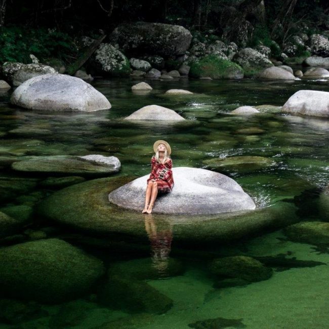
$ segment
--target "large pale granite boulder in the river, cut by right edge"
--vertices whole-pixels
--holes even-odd
[[[329,117],[329,92],[300,90],[284,103],[282,112]]]

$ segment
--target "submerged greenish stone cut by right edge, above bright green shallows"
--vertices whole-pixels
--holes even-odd
[[[329,223],[300,222],[283,229],[284,235],[292,241],[310,244],[329,244]]]

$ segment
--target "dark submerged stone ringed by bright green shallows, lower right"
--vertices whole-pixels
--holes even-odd
[[[248,256],[231,256],[214,259],[209,265],[210,271],[220,277],[240,278],[249,282],[267,280],[272,269]]]

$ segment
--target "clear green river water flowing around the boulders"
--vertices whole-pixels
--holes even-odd
[[[151,81],[151,93],[134,94],[130,88],[137,82],[94,81],[93,86],[112,105],[108,111],[94,113],[34,113],[10,107],[10,92],[0,94],[0,211],[10,214],[8,209],[24,205],[19,216],[28,218],[16,237],[0,239],[0,243],[7,248],[39,238],[64,239],[102,260],[115,287],[109,290],[114,302],[100,302],[104,275],[81,298],[55,305],[38,303],[34,312],[27,311],[30,304],[22,293],[25,308],[0,310],[0,328],[184,329],[216,318],[230,321],[218,320],[216,326],[209,322],[192,325],[327,328],[328,250],[322,244],[290,241],[281,228],[300,221],[327,220],[319,195],[329,182],[329,121],[284,115],[279,108],[298,90],[329,91],[327,81],[180,79]],[[194,94],[164,95],[174,88]],[[174,125],[123,120],[151,104],[171,108],[187,121]],[[266,106],[253,116],[229,114],[242,105]],[[157,139],[171,144],[174,167],[205,168],[228,175],[252,196],[259,209],[230,216],[145,217],[107,205],[109,186],[149,173],[152,145]],[[31,156],[87,154],[119,158],[121,171],[113,175],[115,183],[84,177],[72,181],[85,180],[80,185],[58,191],[62,187],[43,185],[48,178],[45,174],[11,169],[13,161]],[[241,163],[240,157],[247,156],[255,161]],[[75,226],[67,225],[72,219]],[[155,246],[154,235],[162,248]],[[269,279],[232,287],[216,286],[220,278],[209,270],[209,263],[216,258],[279,254],[324,264],[268,265],[273,268]],[[144,274],[139,276],[139,271]],[[117,281],[118,276],[125,279],[125,289],[119,289],[122,282]],[[150,287],[155,290],[148,291]],[[103,291],[106,295],[107,290]],[[167,299],[161,298],[171,299],[172,304],[164,307]],[[146,311],[132,307],[144,299],[154,306]]]

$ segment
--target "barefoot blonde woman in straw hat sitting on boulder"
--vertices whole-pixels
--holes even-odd
[[[157,193],[171,192],[174,186],[171,147],[166,141],[158,140],[153,145],[155,155],[151,158],[151,174],[147,180],[145,205],[142,213],[151,214]]]

